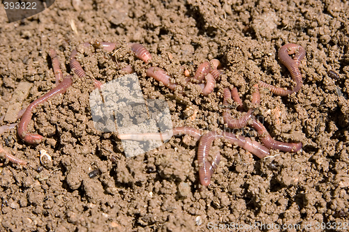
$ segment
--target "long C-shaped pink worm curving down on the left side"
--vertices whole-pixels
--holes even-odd
[[[31,115],[33,109],[35,109],[40,103],[43,103],[47,101],[48,98],[53,97],[54,95],[57,95],[59,93],[66,92],[67,88],[72,84],[71,76],[67,76],[61,83],[59,83],[58,86],[55,88],[52,88],[48,93],[45,93],[42,97],[38,98],[34,102],[31,102],[29,107],[27,107],[26,111],[24,112],[20,124],[18,125],[18,135],[26,141],[29,144],[35,144],[42,141],[43,137],[40,134],[31,134],[28,132],[28,124],[31,120]]]

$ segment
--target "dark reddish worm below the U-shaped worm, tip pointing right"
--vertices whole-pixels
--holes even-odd
[[[262,141],[262,144],[264,144],[267,148],[270,149],[279,149],[285,152],[292,152],[295,153],[298,150],[302,149],[302,142],[299,143],[283,143],[281,141],[276,141],[272,139],[269,132],[267,132],[267,129],[265,129],[265,126],[260,123],[257,119],[253,118],[252,123],[253,128],[257,131],[257,133],[260,135],[260,140]]]

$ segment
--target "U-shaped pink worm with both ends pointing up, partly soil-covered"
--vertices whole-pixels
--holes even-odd
[[[254,105],[255,107],[258,107],[260,104],[260,93],[258,91],[258,84],[255,84],[253,87],[254,87],[254,92],[252,95],[252,105]],[[239,95],[239,93],[237,93],[237,95]],[[227,98],[230,98],[230,93],[228,88],[225,88],[223,105],[228,104]],[[253,111],[254,111],[254,108],[248,109],[248,111],[241,118],[234,119],[230,116],[228,109],[225,109],[225,111],[223,112],[223,120],[225,123],[228,124],[228,127],[239,129],[239,128],[245,127],[248,121],[251,118],[253,118]]]

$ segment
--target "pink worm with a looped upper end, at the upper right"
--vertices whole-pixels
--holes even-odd
[[[289,56],[290,54],[295,54],[293,59]],[[286,68],[288,68],[292,79],[296,82],[296,86],[293,89],[275,87],[265,82],[259,82],[260,86],[269,88],[272,93],[281,96],[290,95],[291,93],[299,91],[302,88],[303,80],[298,67],[300,61],[304,59],[305,54],[306,52],[304,48],[300,45],[295,45],[294,43],[283,45],[279,49],[278,56],[281,63],[283,63],[283,65],[285,65]]]

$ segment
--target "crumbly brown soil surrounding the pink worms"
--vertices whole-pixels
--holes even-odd
[[[77,60],[86,79],[34,110],[31,132],[46,139],[26,144],[13,129],[0,145],[29,162],[0,167],[0,231],[335,231],[349,228],[349,3],[348,1],[253,0],[57,0],[47,10],[8,23],[0,8],[0,114],[5,116],[20,82],[33,84],[22,102],[55,86],[50,47],[64,75]],[[120,42],[111,54],[82,42]],[[219,59],[224,68],[214,92],[186,96],[146,77],[149,65],[126,42],[139,42],[183,82],[180,65],[194,75],[198,65]],[[186,135],[143,155],[126,158],[117,132],[94,128],[89,108],[92,79],[109,82],[132,65],[144,99],[168,101],[175,126],[224,130],[223,89],[236,86],[251,104],[259,80],[292,87],[277,51],[293,42],[306,49],[301,91],[288,97],[261,89],[258,114],[279,141],[302,141],[297,153],[272,150],[259,160],[226,141],[214,141],[221,163],[209,187],[198,178],[198,141]],[[327,76],[328,70],[339,79]],[[196,114],[196,116],[193,114]],[[240,112],[232,109],[232,116]],[[3,121],[2,125],[8,122]],[[239,133],[258,140],[246,127]],[[52,157],[40,162],[40,150]],[[89,173],[99,170],[90,178]],[[279,229],[281,226],[288,229]],[[291,229],[299,225],[301,229]],[[225,226],[225,227],[224,227]],[[230,228],[228,228],[230,226]]]

